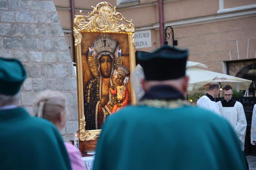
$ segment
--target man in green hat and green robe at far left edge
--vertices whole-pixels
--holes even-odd
[[[71,170],[56,127],[19,106],[26,77],[18,60],[0,58],[0,170]]]

